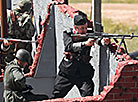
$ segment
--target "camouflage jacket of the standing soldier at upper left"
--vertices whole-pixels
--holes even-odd
[[[32,40],[35,33],[35,27],[30,14],[27,12],[21,13],[18,9],[7,10],[7,23],[9,38]],[[18,43],[16,50],[21,48],[29,52],[32,51],[31,43]]]

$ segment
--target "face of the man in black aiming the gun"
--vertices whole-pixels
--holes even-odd
[[[74,28],[79,34],[85,34],[87,32],[87,23],[84,25],[75,25]]]

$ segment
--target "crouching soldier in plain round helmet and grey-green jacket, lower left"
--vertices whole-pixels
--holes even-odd
[[[46,95],[35,95],[30,90],[32,86],[26,84],[23,68],[28,64],[30,54],[20,49],[14,61],[6,66],[4,73],[4,102],[28,102],[48,99]]]

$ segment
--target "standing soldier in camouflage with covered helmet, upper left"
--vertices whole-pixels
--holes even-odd
[[[31,0],[21,0],[18,8],[7,11],[8,37],[23,40],[32,40],[35,27],[32,23],[32,2]],[[15,44],[16,50],[23,48],[31,53],[30,43]]]

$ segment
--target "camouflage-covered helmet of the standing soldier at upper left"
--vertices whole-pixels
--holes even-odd
[[[32,1],[31,0],[20,0],[18,3],[18,6],[21,8],[23,12],[30,11],[32,7]]]

